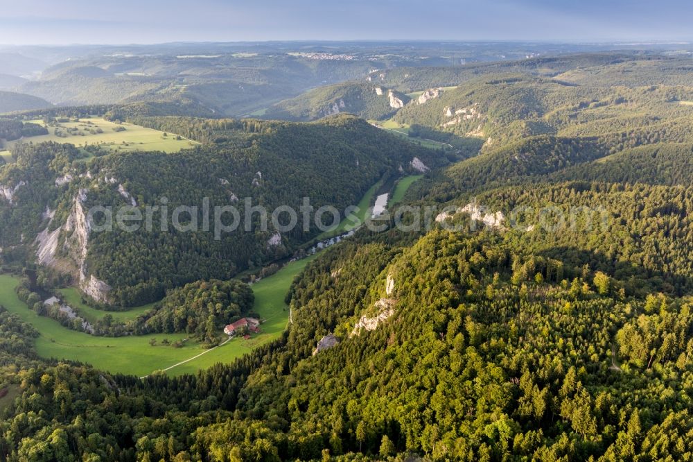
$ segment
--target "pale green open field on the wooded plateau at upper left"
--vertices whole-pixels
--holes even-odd
[[[31,121],[44,125],[43,121]],[[121,130],[123,131],[116,131]],[[65,136],[55,135],[55,130],[63,133]],[[77,129],[83,135],[75,135],[68,132],[69,129]],[[90,133],[89,130],[102,133]],[[164,137],[164,132],[144,128],[132,123],[114,123],[104,119],[91,118],[80,119],[79,122],[61,122],[59,127],[48,127],[49,135],[40,135],[37,137],[23,138],[14,142],[8,142],[7,146],[13,146],[17,142],[56,142],[56,143],[71,143],[75,146],[84,147],[88,144],[99,144],[104,148],[116,152],[129,151],[164,151],[166,153],[177,153],[178,151],[198,144],[197,142],[188,139],[177,139],[177,135],[168,133]]]

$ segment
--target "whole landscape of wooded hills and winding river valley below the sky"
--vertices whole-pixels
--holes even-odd
[[[0,459],[693,459],[693,45],[609,47],[95,46],[19,80],[95,105],[0,117]],[[306,198],[360,210],[284,226]]]

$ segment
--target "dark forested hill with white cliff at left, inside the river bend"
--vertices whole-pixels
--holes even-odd
[[[144,210],[166,198],[169,210],[197,206],[195,218],[202,223],[204,198],[209,198],[210,210],[234,205],[243,217],[244,198],[271,213],[279,205],[298,210],[307,197],[315,209],[333,205],[343,213],[381,178],[417,173],[411,166],[415,157],[430,168],[442,162],[433,151],[344,115],[312,124],[184,118],[148,123],[204,143],[175,154],[97,150],[86,161],[80,161],[80,151],[57,144],[17,145],[17,162],[0,169],[0,184],[11,191],[11,197],[0,200],[2,246],[20,244],[22,236],[24,243],[33,242],[26,237],[45,230],[43,264],[71,273],[86,291],[91,275],[105,282],[110,290],[98,284],[98,291],[90,293],[99,301],[136,305],[186,282],[225,280],[286,257],[315,237],[317,227],[310,221],[305,232],[297,226],[278,234],[268,218],[266,229],[253,222],[247,232],[240,227],[218,240],[213,231],[173,228],[83,236],[73,223],[83,207],[135,205]],[[58,234],[48,239],[53,232]]]

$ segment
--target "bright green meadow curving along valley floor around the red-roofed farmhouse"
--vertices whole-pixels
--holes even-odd
[[[143,336],[97,337],[76,332],[63,327],[51,318],[37,316],[17,298],[15,287],[17,277],[0,275],[0,305],[17,314],[26,323],[32,324],[39,332],[35,348],[40,357],[70,359],[91,364],[110,373],[124,373],[138,376],[148,375],[155,370],[170,368],[203,353],[192,361],[171,368],[170,375],[194,373],[209,368],[215,363],[228,363],[259,345],[277,339],[286,327],[288,310],[284,296],[293,278],[305,268],[314,257],[291,262],[276,274],[254,284],[254,311],[267,322],[261,325],[262,333],[245,341],[233,339],[216,350],[202,350],[195,342],[186,342],[182,348],[160,345],[161,340],[182,340],[187,334],[150,334]],[[152,347],[150,339],[157,339],[159,346]],[[207,351],[207,352],[206,352]]]

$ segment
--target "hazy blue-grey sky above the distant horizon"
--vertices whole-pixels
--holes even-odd
[[[691,0],[3,0],[0,44],[693,40]]]

